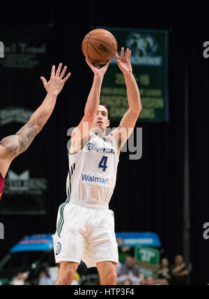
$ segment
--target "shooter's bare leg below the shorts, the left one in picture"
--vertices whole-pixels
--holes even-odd
[[[77,271],[79,263],[73,261],[61,261],[59,267],[58,278],[56,279],[56,285],[70,285],[72,279]]]

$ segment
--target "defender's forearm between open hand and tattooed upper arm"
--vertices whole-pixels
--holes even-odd
[[[29,123],[33,124],[36,127],[36,130],[40,132],[42,127],[48,121],[51,116],[54,106],[56,104],[56,93],[47,93],[45,100],[43,100],[42,104],[36,111],[32,114],[29,119]]]

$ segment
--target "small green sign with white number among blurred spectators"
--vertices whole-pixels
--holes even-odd
[[[157,270],[160,263],[160,250],[153,247],[145,247],[144,245],[137,245],[134,248],[134,257],[141,268],[141,273],[144,276],[152,276],[157,278]]]

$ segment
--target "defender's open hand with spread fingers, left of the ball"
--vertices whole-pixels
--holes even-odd
[[[63,71],[61,72],[62,66],[63,66],[62,63],[59,63],[59,67],[57,68],[56,72],[55,72],[55,66],[52,66],[51,77],[48,82],[45,79],[45,77],[40,77],[43,85],[45,86],[47,93],[55,93],[56,95],[58,95],[63,89],[65,82],[70,77],[71,75],[70,72],[68,73],[67,76],[64,77],[65,72],[67,70],[67,66],[65,66],[63,68]]]

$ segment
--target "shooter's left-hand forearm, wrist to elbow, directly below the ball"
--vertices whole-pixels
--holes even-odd
[[[94,75],[93,84],[91,86],[91,91],[88,95],[86,102],[84,114],[89,118],[94,118],[98,111],[98,106],[100,104],[100,92],[102,86],[102,76]]]

